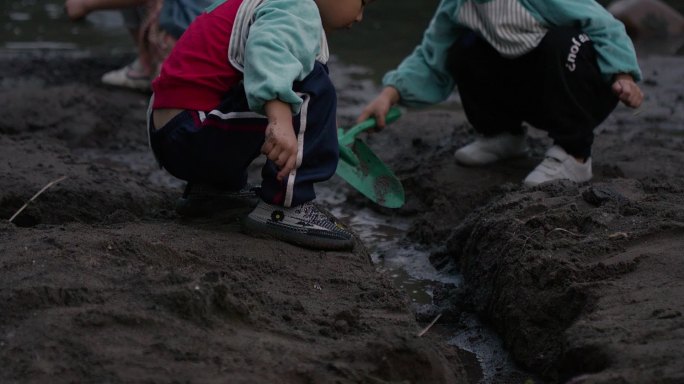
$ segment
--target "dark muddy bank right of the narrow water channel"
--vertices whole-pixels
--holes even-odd
[[[550,145],[533,128],[529,158],[455,164],[472,140],[458,100],[373,138],[425,212],[409,235],[463,274],[442,311],[479,314],[549,382],[684,382],[684,59],[641,61],[646,102],[597,129],[590,183],[521,186]]]

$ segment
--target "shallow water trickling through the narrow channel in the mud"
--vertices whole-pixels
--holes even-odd
[[[390,276],[413,303],[432,304],[432,287],[437,283],[456,286],[461,283],[460,275],[447,275],[433,267],[430,249],[406,242],[410,218],[385,216],[368,208],[351,210],[344,204],[345,196],[339,190],[322,184],[317,194],[319,200],[331,207],[332,214],[359,234],[377,269]],[[517,367],[501,339],[476,316],[464,315],[458,326],[445,325],[444,330],[448,344],[475,356],[482,375],[479,383],[522,383],[528,379],[542,383]]]

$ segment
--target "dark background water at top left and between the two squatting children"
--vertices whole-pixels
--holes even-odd
[[[370,69],[368,76],[377,82],[420,41],[438,2],[374,2],[366,8],[362,23],[329,36],[331,51],[347,63],[364,63]],[[116,10],[93,12],[84,20],[72,22],[64,12],[64,0],[2,1],[0,23],[0,50],[134,52]]]

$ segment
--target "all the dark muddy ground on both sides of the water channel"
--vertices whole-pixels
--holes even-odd
[[[147,95],[99,85],[128,59],[0,57],[0,382],[475,383],[438,332],[468,313],[530,372],[498,382],[684,381],[684,60],[642,59],[646,105],[599,128],[590,184],[521,187],[548,145],[533,129],[528,159],[456,165],[472,137],[457,98],[367,138],[408,193],[378,212],[410,218],[407,237],[464,277],[415,312],[368,244],[254,239],[244,211],[178,218]],[[375,91],[347,71],[342,123]]]

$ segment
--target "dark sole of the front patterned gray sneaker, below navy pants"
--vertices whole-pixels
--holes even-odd
[[[246,217],[242,220],[243,232],[260,238],[273,238],[282,240],[286,243],[299,245],[304,248],[311,248],[323,251],[346,251],[354,248],[354,239],[334,239],[315,237],[306,232],[287,230],[282,227],[274,227],[267,223],[261,223]]]

